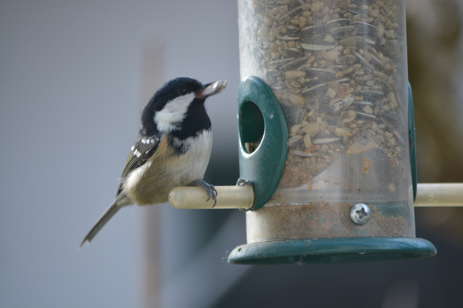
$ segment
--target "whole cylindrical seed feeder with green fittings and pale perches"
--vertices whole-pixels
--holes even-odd
[[[247,244],[229,262],[435,255],[415,237],[404,1],[238,0],[238,22],[240,177],[254,190],[217,187],[216,208],[247,211]],[[455,203],[455,185],[422,187],[419,198]],[[188,202],[205,197],[198,187],[169,195],[181,208],[210,208]]]

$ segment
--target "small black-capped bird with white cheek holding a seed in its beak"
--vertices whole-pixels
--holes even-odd
[[[168,201],[178,186],[202,187],[217,202],[217,190],[202,180],[212,150],[211,120],[204,103],[226,87],[226,80],[202,84],[187,77],[164,83],[144,105],[140,130],[119,181],[116,199],[81,242],[90,243],[126,205]]]

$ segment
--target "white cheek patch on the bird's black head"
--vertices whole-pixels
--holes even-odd
[[[160,132],[174,130],[176,123],[180,123],[185,118],[188,106],[194,100],[194,93],[175,97],[166,103],[161,111],[157,111],[154,121]]]

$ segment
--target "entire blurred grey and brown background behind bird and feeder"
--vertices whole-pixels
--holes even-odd
[[[407,13],[419,182],[462,182],[461,2]],[[143,103],[179,76],[228,79],[206,103],[205,177],[233,185],[236,1],[0,1],[0,307],[461,307],[462,209],[416,210],[438,248],[424,260],[233,266],[242,212],[169,205],[125,208],[77,250],[113,200]]]

